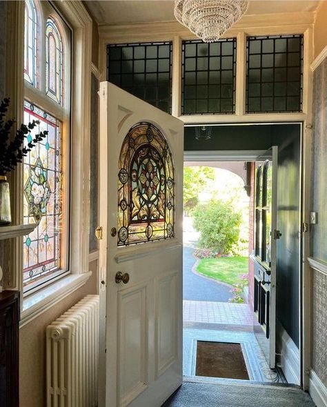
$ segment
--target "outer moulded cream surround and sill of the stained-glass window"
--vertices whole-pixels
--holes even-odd
[[[89,202],[90,202],[90,78],[92,65],[92,19],[83,3],[51,2],[54,8],[61,13],[63,19],[72,28],[72,94],[75,95],[71,103],[71,145],[74,154],[70,157],[70,275],[49,284],[42,290],[23,299],[21,295],[21,326],[28,324],[44,310],[50,308],[71,292],[77,290],[88,281],[90,272],[88,261],[88,235],[89,235]],[[23,121],[24,79],[24,15],[25,2],[14,2],[10,5],[14,31],[8,38],[8,49],[16,49],[17,53],[10,56],[13,69],[6,77],[8,95],[11,97],[11,112],[15,115],[17,123]],[[17,23],[19,21],[19,23]],[[28,88],[28,84],[26,86]],[[30,92],[27,89],[26,92]],[[34,92],[37,92],[35,89]],[[44,109],[47,106],[43,105]],[[60,117],[58,117],[60,119]],[[23,166],[19,166],[10,176],[12,185],[12,199],[19,203],[13,207],[12,220],[14,224],[22,224],[23,219]],[[8,284],[10,289],[22,291],[23,268],[23,239],[12,240],[14,259],[10,264]]]

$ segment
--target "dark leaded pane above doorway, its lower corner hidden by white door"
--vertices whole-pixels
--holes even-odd
[[[171,112],[171,42],[115,44],[108,46],[107,52],[108,81]]]

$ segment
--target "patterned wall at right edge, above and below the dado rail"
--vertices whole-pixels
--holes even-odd
[[[327,18],[326,18],[327,26]],[[326,37],[327,38],[327,37]],[[327,58],[314,72],[312,203],[318,223],[311,226],[312,257],[327,263]],[[313,270],[313,369],[327,387],[327,276]]]

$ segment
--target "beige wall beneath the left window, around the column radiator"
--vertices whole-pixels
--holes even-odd
[[[30,321],[19,332],[19,393],[21,407],[46,406],[46,327],[77,301],[97,292],[97,261],[90,263],[87,283]]]

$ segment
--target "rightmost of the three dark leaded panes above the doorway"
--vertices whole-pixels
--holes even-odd
[[[248,37],[246,68],[247,113],[301,112],[303,35]]]

